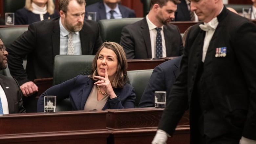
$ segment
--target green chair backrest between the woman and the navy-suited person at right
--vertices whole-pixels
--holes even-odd
[[[134,87],[134,90],[135,90],[135,94],[136,94],[135,106],[136,107],[139,105],[139,100],[148,84],[148,81],[152,72],[153,72],[153,69],[127,71],[129,83]]]

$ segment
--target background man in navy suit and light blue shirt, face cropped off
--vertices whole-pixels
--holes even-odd
[[[122,6],[121,0],[102,0],[95,4],[86,6],[86,18],[87,12],[96,12],[96,21],[101,19],[117,19],[117,18],[129,18],[136,17],[134,10]]]

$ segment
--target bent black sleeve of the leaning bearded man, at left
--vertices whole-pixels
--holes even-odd
[[[28,31],[19,36],[7,51],[8,67],[11,76],[15,78],[20,85],[30,81],[26,70],[23,68],[23,58],[34,51],[36,48],[36,27],[34,24],[29,25]]]

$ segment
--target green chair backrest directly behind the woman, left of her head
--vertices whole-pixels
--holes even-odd
[[[56,55],[53,64],[53,86],[78,74],[90,74],[94,55]]]

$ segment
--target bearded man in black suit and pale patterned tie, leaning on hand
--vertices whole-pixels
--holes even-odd
[[[58,5],[59,18],[32,23],[7,48],[10,73],[26,97],[38,92],[34,79],[53,77],[55,55],[95,55],[102,44],[97,22],[84,20],[85,0],[59,0]],[[26,70],[22,65],[25,56]],[[32,112],[36,112],[36,103]]]

